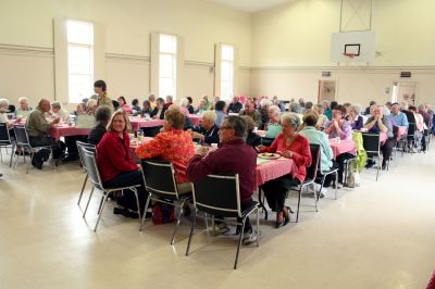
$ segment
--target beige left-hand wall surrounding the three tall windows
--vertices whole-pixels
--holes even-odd
[[[213,93],[210,66],[217,42],[234,43],[239,64],[250,64],[250,15],[208,1],[1,0],[0,96],[11,102],[21,96],[33,102],[53,97],[54,17],[90,20],[104,27],[105,80],[113,98],[124,95],[130,100],[149,92],[150,33],[156,30],[184,37],[186,96]],[[249,83],[244,77],[243,83]],[[245,85],[236,92],[248,91]]]

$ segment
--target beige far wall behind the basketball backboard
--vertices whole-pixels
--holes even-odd
[[[402,80],[417,81],[419,100],[434,102],[435,1],[374,1],[373,29],[381,54],[370,66],[337,67],[330,61],[330,37],[338,30],[339,2],[297,0],[252,15],[251,95],[315,101],[322,71],[331,71],[338,83],[338,101],[386,101],[385,89],[400,80],[400,71],[411,71],[412,78]]]

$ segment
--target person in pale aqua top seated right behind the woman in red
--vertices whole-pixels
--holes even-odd
[[[338,164],[332,160],[334,158],[333,150],[330,146],[327,135],[323,131],[315,129],[318,124],[319,115],[316,112],[310,112],[303,116],[304,127],[299,131],[299,135],[306,137],[309,143],[320,144],[320,174],[324,174],[333,168],[338,168]],[[332,175],[328,175],[325,179],[324,187],[330,187],[332,181]],[[320,185],[315,184],[315,190],[320,190]],[[325,196],[326,190],[320,191],[320,197]]]

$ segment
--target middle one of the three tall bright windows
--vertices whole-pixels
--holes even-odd
[[[159,47],[159,95],[176,98],[177,39],[172,35],[160,35]]]

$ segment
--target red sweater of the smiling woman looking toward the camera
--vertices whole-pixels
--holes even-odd
[[[124,138],[120,138],[115,131],[104,134],[97,146],[97,164],[103,183],[121,173],[138,169],[129,151],[129,138],[126,131]]]

